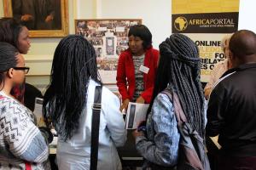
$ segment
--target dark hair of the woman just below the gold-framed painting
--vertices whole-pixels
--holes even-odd
[[[1,18],[0,19],[0,42],[9,42],[15,48],[18,47],[18,38],[22,31],[21,25],[14,18]]]

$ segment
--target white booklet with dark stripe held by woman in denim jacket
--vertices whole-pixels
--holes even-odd
[[[136,129],[140,122],[145,121],[148,107],[148,104],[138,104],[129,102],[126,113],[125,128]]]

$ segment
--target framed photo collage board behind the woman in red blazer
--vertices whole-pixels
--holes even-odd
[[[130,26],[142,19],[74,20],[75,33],[85,37],[96,50],[97,67],[106,85],[116,84],[119,54],[128,48]]]

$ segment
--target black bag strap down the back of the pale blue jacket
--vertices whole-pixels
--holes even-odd
[[[90,170],[97,169],[99,127],[102,110],[102,86],[96,86],[94,104],[92,105],[91,139],[90,139]]]

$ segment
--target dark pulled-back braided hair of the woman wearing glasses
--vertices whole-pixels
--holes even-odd
[[[18,63],[17,54],[19,54],[17,48],[7,42],[0,42],[0,84],[3,83],[0,90],[4,87],[4,72],[15,67]]]

